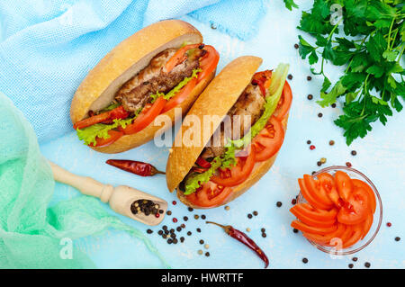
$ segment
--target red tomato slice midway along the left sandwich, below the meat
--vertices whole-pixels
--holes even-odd
[[[163,110],[166,102],[167,101],[163,97],[158,97],[150,108],[145,107],[143,109],[144,111],[139,114],[135,121],[123,129],[124,133],[130,135],[148,127],[148,125],[154,121],[157,115],[159,115],[159,113]]]

